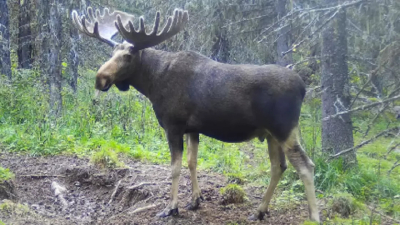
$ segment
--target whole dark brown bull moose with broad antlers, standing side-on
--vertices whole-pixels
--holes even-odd
[[[189,21],[187,11],[175,9],[159,32],[160,12],[153,29],[139,28],[134,15],[105,8],[85,15],[72,12],[80,32],[114,48],[112,57],[96,75],[97,92],[112,85],[120,91],[133,86],[152,103],[164,129],[171,154],[171,199],[159,217],[178,215],[178,182],[182,165],[183,136],[187,136],[187,160],[192,183],[188,210],[199,208],[202,196],[196,175],[199,134],[224,142],[267,139],[271,181],[250,220],[269,214],[273,192],[287,168],[286,157],[304,183],[309,216],[319,221],[314,189],[314,163],[299,142],[298,123],[305,84],[294,71],[278,65],[231,65],[213,61],[193,51],[171,53],[151,48],[180,32]],[[113,39],[120,34],[124,41]]]

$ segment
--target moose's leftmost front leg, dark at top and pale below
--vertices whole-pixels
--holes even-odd
[[[167,132],[167,139],[169,149],[171,152],[171,170],[172,170],[172,186],[171,186],[171,200],[168,206],[160,213],[159,217],[175,216],[178,215],[178,187],[179,176],[182,167],[182,152],[183,152],[183,139],[181,134]]]

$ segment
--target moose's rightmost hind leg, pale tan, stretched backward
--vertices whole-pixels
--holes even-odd
[[[306,190],[310,219],[320,222],[314,188],[314,163],[307,157],[300,145],[298,130],[294,129],[289,139],[284,143],[284,152],[290,163],[297,170]]]

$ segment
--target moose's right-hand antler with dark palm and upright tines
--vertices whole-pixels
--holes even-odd
[[[167,23],[159,34],[157,34],[157,32],[160,25],[160,12],[156,13],[153,31],[150,32],[150,34],[146,33],[143,17],[140,17],[139,19],[138,30],[135,30],[132,22],[133,20],[128,21],[127,25],[129,30],[127,30],[125,28],[126,24],[124,23],[124,17],[121,14],[117,15],[117,22],[115,23],[115,26],[117,27],[121,36],[127,42],[134,45],[135,50],[141,50],[155,46],[174,36],[185,27],[188,20],[189,14],[186,10],[183,11],[181,9],[175,9],[173,17],[168,17]]]

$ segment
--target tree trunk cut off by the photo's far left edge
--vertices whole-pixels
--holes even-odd
[[[6,0],[0,0],[0,75],[11,81],[10,21]]]

